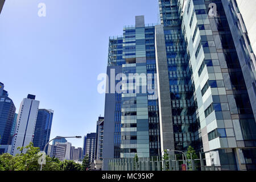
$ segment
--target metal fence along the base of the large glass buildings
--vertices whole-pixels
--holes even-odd
[[[185,160],[177,160],[176,155],[171,160],[157,158],[126,158],[108,159],[109,171],[182,171]],[[187,159],[188,171],[220,171],[220,166],[206,166],[207,159]]]

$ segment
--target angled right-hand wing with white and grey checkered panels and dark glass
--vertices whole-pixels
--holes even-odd
[[[250,75],[255,67],[234,28],[232,6],[232,1],[177,1],[207,165],[255,169],[255,77]],[[163,22],[168,23],[164,16]]]

